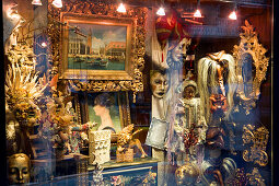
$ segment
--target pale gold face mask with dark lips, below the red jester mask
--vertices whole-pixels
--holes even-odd
[[[153,95],[158,98],[163,98],[163,96],[165,95],[170,88],[168,77],[167,74],[155,72],[151,77],[150,84]]]

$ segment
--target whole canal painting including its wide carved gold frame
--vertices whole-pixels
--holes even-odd
[[[48,1],[51,40],[50,74],[59,74],[74,91],[143,91],[147,8],[101,1]]]

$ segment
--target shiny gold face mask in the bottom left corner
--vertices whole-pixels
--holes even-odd
[[[30,158],[24,153],[9,158],[9,183],[26,184],[30,182]]]

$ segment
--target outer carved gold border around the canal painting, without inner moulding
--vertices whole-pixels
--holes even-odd
[[[63,1],[63,7],[57,9],[48,0],[48,33],[51,40],[51,56],[53,69],[51,73],[57,74],[62,70],[62,14],[71,13],[77,15],[101,16],[107,19],[133,19],[135,25],[132,26],[131,35],[133,36],[130,42],[129,65],[130,78],[119,79],[109,77],[109,79],[91,79],[82,81],[80,79],[67,79],[60,75],[59,79],[66,80],[70,88],[74,91],[89,91],[89,92],[116,92],[116,91],[132,91],[133,101],[136,100],[137,92],[143,91],[142,83],[142,69],[144,67],[144,53],[146,53],[146,19],[147,8],[128,8],[126,13],[116,11],[116,2],[93,2],[93,1]]]

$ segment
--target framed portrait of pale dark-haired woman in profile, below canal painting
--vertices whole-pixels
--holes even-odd
[[[93,130],[119,132],[130,124],[127,92],[94,92],[79,96],[82,123],[96,123]]]

